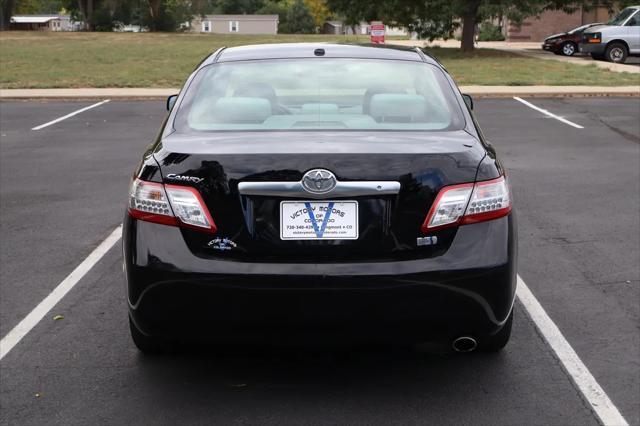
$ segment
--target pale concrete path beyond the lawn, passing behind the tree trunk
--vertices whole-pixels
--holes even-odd
[[[426,40],[389,40],[387,44],[397,44],[401,46],[418,46],[418,47],[449,47],[459,48],[460,42],[458,40],[434,40],[432,42]],[[516,55],[526,56],[529,58],[544,59],[550,61],[569,62],[575,65],[595,65],[598,68],[607,69],[614,72],[628,72],[633,74],[640,74],[640,66],[638,64],[614,64],[612,62],[594,61],[590,57],[581,55],[575,56],[559,56],[550,52],[545,52],[541,49],[542,43],[536,42],[507,42],[507,41],[480,41],[477,43],[477,47],[482,49],[496,49],[505,52],[511,52]],[[634,58],[629,58],[634,60]],[[639,77],[640,82],[640,77]]]

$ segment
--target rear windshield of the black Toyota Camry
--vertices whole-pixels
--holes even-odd
[[[458,130],[443,72],[421,62],[305,58],[213,64],[195,76],[178,131]]]

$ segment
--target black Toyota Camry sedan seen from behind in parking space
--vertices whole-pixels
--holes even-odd
[[[509,340],[516,228],[470,97],[418,49],[223,48],[133,174],[133,341]]]

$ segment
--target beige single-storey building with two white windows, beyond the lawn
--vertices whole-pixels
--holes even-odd
[[[191,31],[216,34],[278,34],[278,15],[195,16]]]

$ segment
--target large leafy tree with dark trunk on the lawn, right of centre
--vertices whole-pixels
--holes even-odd
[[[460,46],[464,52],[473,51],[477,25],[496,11],[518,22],[544,10],[572,12],[583,5],[614,3],[614,0],[328,0],[330,9],[346,16],[347,24],[381,20],[407,27],[429,40],[451,38],[462,25]]]

